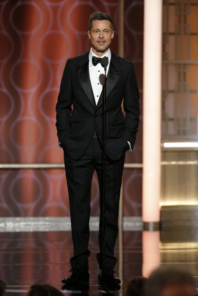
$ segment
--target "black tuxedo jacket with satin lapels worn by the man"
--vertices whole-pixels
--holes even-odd
[[[126,112],[124,118],[121,103]],[[73,110],[72,110],[73,104]],[[102,143],[103,91],[96,106],[89,78],[89,51],[67,60],[56,104],[59,143],[72,159],[79,159],[96,130]],[[133,148],[139,124],[139,91],[133,63],[111,52],[107,74],[107,155],[119,159],[130,142]]]

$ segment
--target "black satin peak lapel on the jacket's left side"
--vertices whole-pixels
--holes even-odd
[[[94,93],[93,93],[93,90],[91,87],[91,81],[89,78],[89,59],[85,62],[84,65],[75,64],[75,67],[76,67],[76,72],[77,72],[80,84],[86,96],[88,97],[90,103],[92,104],[94,109],[96,109],[96,101],[94,98]]]

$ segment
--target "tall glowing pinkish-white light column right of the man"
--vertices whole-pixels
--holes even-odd
[[[151,230],[160,220],[161,52],[162,0],[145,0],[142,218],[146,228]]]

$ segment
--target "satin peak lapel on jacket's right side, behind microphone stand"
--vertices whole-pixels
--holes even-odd
[[[110,94],[112,89],[115,87],[120,75],[122,74],[124,67],[116,68],[113,64],[112,60],[110,60],[109,70],[107,73],[107,89],[106,89],[106,96]],[[103,88],[104,89],[104,88]],[[99,97],[98,104],[96,110],[102,105],[103,103],[103,90]]]

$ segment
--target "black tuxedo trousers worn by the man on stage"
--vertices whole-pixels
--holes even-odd
[[[79,144],[80,149],[80,144]],[[122,173],[123,155],[119,160],[106,161],[106,268],[114,268],[115,241],[118,236],[118,210]],[[102,268],[102,147],[97,138],[92,138],[85,153],[79,160],[73,160],[64,153],[66,180],[69,193],[70,216],[74,256],[70,259],[72,268],[89,269],[88,250],[89,219],[91,201],[91,181],[96,170],[100,191],[99,248],[96,258]]]

